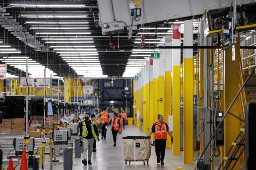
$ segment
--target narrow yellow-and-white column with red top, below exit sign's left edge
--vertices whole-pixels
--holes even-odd
[[[150,59],[149,64],[149,129],[153,123],[156,122],[154,119],[154,78],[153,78],[153,59]]]

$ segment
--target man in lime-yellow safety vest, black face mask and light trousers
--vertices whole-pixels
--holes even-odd
[[[99,133],[98,129],[95,125],[94,122],[91,122],[89,120],[90,118],[90,113],[85,113],[85,120],[82,122],[82,126],[80,126],[80,140],[82,139],[83,142],[83,149],[84,149],[84,154],[83,157],[84,159],[82,160],[82,163],[84,165],[89,165],[92,164],[91,159],[92,159],[92,152],[93,152],[93,143],[94,140],[99,141]],[[88,161],[87,161],[87,151],[88,151]]]

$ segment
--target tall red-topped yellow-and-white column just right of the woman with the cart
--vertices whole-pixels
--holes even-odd
[[[180,24],[173,24],[173,46],[181,45]],[[173,49],[172,67],[172,116],[173,116],[173,155],[181,155],[181,49]]]

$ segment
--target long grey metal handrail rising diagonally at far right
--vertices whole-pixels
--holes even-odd
[[[230,106],[228,107],[227,111],[225,112],[223,118],[221,119],[221,121],[220,121],[218,127],[216,127],[216,129],[219,129],[219,128],[220,128],[221,123],[224,121],[224,119],[225,119],[225,117],[227,116],[227,114],[231,114],[232,116],[238,118],[238,117],[235,116],[234,114],[230,113],[229,110],[231,109],[231,107],[232,107],[233,104],[235,103],[237,97],[239,96],[239,94],[241,93],[241,91],[243,90],[243,88],[245,87],[245,84],[247,83],[247,81],[249,80],[249,78],[251,77],[251,75],[253,74],[253,72],[255,71],[255,69],[256,69],[256,66],[252,69],[250,75],[246,78],[246,80],[245,80],[243,86],[241,87],[241,89],[240,89],[240,90],[238,91],[238,93],[236,94],[235,98],[233,99],[232,103],[231,103]],[[238,119],[239,119],[239,118],[238,118]],[[199,161],[202,159],[203,154],[205,153],[206,149],[207,149],[207,148],[209,147],[209,145],[211,144],[211,141],[212,141],[212,139],[215,137],[216,133],[217,133],[217,130],[215,130],[214,133],[212,134],[212,137],[211,137],[211,139],[209,140],[209,142],[207,143],[206,147],[204,148],[203,153],[202,153],[202,155],[201,155],[200,158],[199,158]],[[198,162],[199,162],[199,161],[197,161],[196,167],[198,166]],[[196,169],[196,167],[195,167],[195,169]]]

